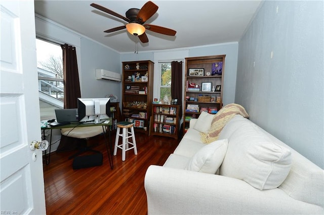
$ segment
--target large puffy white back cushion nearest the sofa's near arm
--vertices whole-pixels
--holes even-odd
[[[245,119],[228,138],[220,175],[244,180],[260,190],[273,189],[288,176],[291,160],[289,149],[271,141],[256,124]]]

